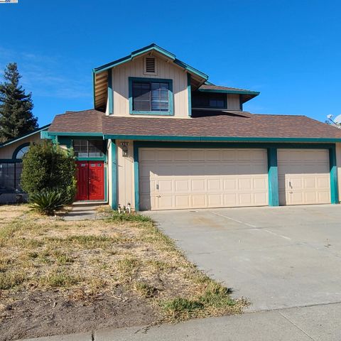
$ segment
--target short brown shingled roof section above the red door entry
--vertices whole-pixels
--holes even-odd
[[[102,133],[102,112],[82,110],[81,112],[65,112],[56,115],[48,131],[62,133]]]

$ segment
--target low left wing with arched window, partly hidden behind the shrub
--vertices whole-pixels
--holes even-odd
[[[50,124],[42,126],[17,139],[0,144],[0,202],[21,202],[26,199],[20,187],[22,158],[31,143],[40,143],[40,134]]]

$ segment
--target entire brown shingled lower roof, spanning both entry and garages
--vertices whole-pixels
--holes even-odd
[[[112,136],[341,139],[341,129],[305,116],[227,111],[215,112],[215,116],[212,111],[200,114],[201,117],[192,119],[109,117],[96,110],[85,110],[57,115],[49,131]]]

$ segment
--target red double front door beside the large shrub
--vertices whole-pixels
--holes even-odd
[[[76,200],[104,200],[103,161],[77,161]]]

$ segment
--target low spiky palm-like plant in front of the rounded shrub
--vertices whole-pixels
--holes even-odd
[[[44,215],[53,215],[63,207],[63,194],[58,190],[42,190],[30,196],[30,206]]]

